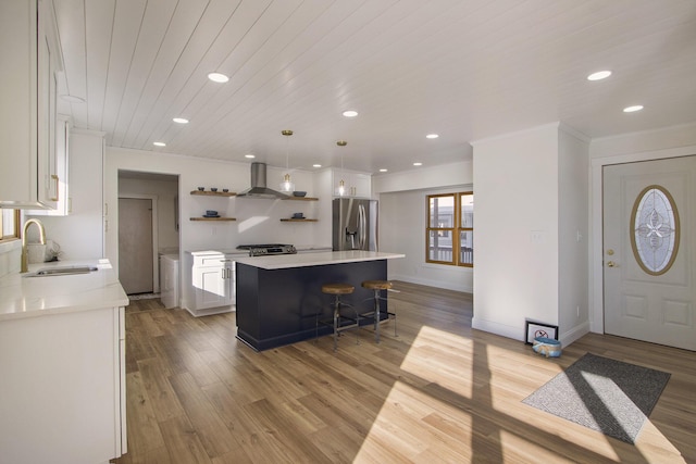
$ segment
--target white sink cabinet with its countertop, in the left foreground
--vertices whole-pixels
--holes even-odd
[[[98,463],[126,452],[127,304],[108,260],[0,278],[1,462]]]

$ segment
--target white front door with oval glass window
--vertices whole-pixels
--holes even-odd
[[[696,155],[605,166],[605,331],[696,351]]]

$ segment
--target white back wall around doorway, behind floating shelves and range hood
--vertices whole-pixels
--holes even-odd
[[[282,223],[293,212],[304,212],[312,217],[318,202],[244,199],[225,197],[191,196],[197,187],[228,188],[241,191],[249,187],[250,167],[246,163],[231,163],[202,158],[152,153],[141,150],[107,148],[104,167],[105,202],[109,204],[109,227],[105,233],[105,254],[114,267],[119,265],[119,170],[179,176],[179,234],[181,248],[194,250],[231,250],[243,242],[288,242],[295,244],[326,243],[327,239],[315,236],[318,223]],[[268,185],[277,188],[285,170],[269,166]],[[298,190],[313,190],[313,173],[293,171],[293,180]],[[223,216],[236,217],[236,222],[194,222],[206,210],[216,210]]]

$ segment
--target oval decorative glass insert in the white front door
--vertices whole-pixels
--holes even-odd
[[[638,195],[631,212],[631,247],[641,268],[650,275],[672,267],[679,250],[679,213],[670,192],[648,186]]]

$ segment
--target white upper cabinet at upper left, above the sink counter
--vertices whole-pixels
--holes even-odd
[[[62,55],[51,0],[0,2],[0,206],[57,209]]]

